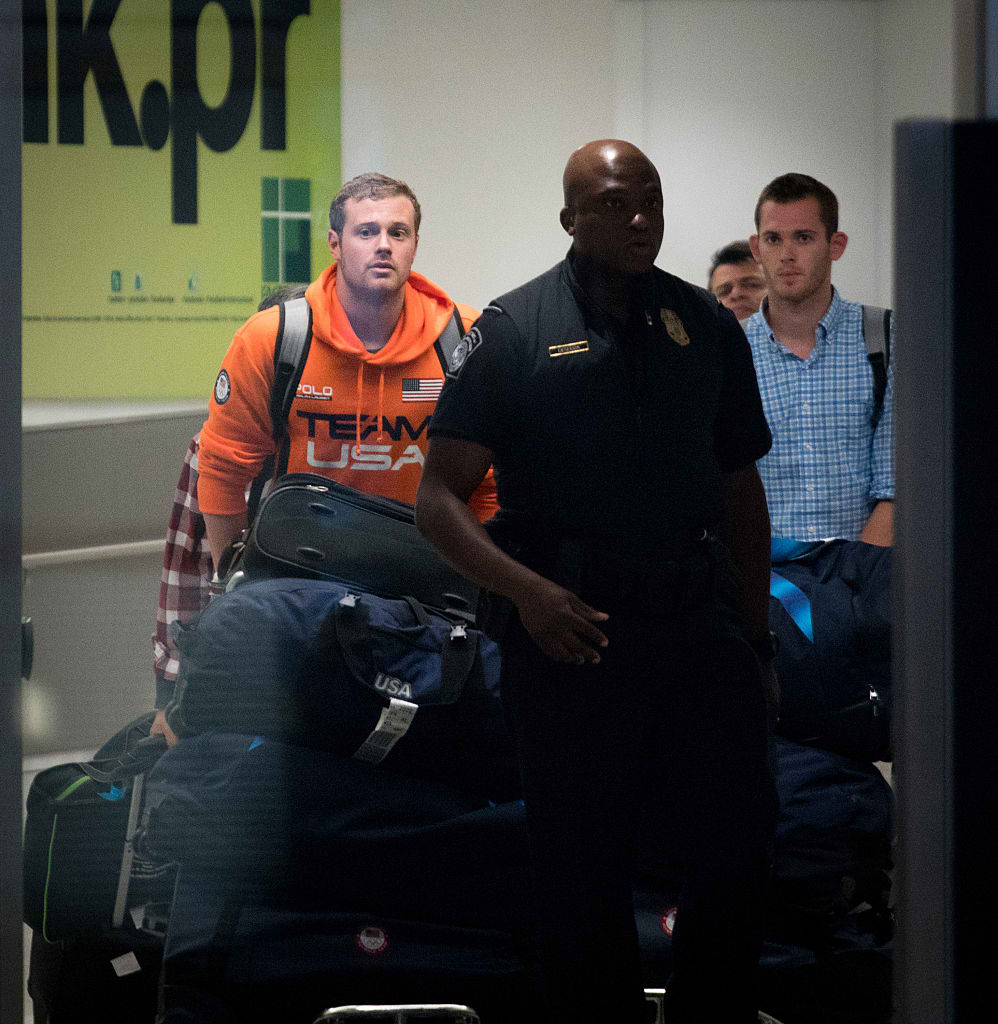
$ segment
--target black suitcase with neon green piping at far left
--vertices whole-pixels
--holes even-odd
[[[136,854],[147,768],[165,749],[149,712],[88,762],[40,772],[28,794],[25,922],[36,1024],[153,1021],[176,866]]]

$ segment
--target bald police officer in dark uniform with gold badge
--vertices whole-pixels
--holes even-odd
[[[654,267],[658,173],[612,139],[565,168],[567,258],[486,307],[434,414],[420,528],[511,608],[547,1021],[644,1019],[643,807],[684,888],[669,1021],[754,1022],[766,767],[769,450],[735,317]],[[494,463],[488,532],[465,502]],[[663,857],[665,853],[663,851]]]

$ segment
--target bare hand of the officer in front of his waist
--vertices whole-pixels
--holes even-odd
[[[594,624],[610,617],[605,611],[545,579],[517,598],[516,606],[523,628],[549,657],[569,665],[599,663],[599,649],[609,641]]]

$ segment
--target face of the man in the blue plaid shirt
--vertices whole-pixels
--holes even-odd
[[[770,301],[778,296],[802,303],[817,293],[831,297],[831,265],[845,249],[845,236],[830,238],[821,222],[821,207],[813,196],[793,203],[763,204],[758,234],[748,243],[763,267]]]

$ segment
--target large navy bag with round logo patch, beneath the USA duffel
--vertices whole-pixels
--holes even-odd
[[[441,992],[491,1009],[526,986],[519,801],[217,731],[172,746],[147,795],[140,846],[180,862],[167,1020],[309,1021]]]

